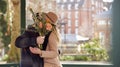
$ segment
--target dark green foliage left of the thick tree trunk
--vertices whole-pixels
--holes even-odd
[[[8,49],[8,45],[10,43],[10,33],[8,33],[7,28],[7,2],[5,0],[0,0],[0,37],[2,38],[2,43],[4,43],[4,47]]]

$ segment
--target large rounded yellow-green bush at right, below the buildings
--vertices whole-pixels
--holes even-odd
[[[88,60],[107,61],[109,59],[107,50],[100,44],[99,39],[93,39],[85,43],[81,48],[84,49],[84,53],[91,55]]]

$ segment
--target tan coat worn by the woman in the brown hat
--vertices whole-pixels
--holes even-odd
[[[46,51],[42,51],[41,57],[44,58],[44,67],[61,67],[57,38],[53,32],[49,36]]]

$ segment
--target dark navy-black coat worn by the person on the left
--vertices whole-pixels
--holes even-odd
[[[16,38],[15,46],[21,48],[20,67],[44,67],[43,58],[37,54],[30,52],[29,47],[38,47],[36,38],[39,34],[34,28],[24,31],[24,33]]]

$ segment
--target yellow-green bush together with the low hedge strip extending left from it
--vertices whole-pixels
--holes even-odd
[[[60,60],[77,60],[77,61],[108,61],[109,56],[107,50],[100,45],[99,39],[93,39],[89,42],[84,43],[81,46],[82,54],[73,56],[63,55]]]

